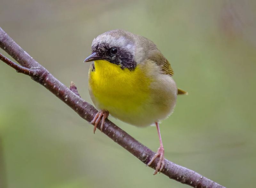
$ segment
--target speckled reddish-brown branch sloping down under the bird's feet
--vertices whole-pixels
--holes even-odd
[[[31,58],[28,53],[20,48],[20,46],[16,44],[12,38],[1,29],[1,27],[0,47],[11,55],[17,62],[19,62],[21,66],[15,64],[2,55],[1,60],[15,68],[15,70],[29,75],[34,81],[42,84],[46,89],[50,90],[55,96],[71,107],[83,119],[88,122],[92,121],[94,115],[97,113],[97,110],[92,105],[80,98],[75,84],[71,83],[70,89],[68,89],[42,65]],[[31,74],[31,72],[33,72],[33,74]],[[97,128],[100,129],[100,123]],[[147,164],[155,155],[155,153],[148,147],[139,143],[124,130],[120,129],[109,120],[106,120],[104,123],[103,133],[145,164]],[[157,162],[158,159],[156,159],[150,165],[150,167],[155,169]],[[223,186],[207,179],[193,170],[179,166],[166,159],[164,162],[165,166],[162,173],[182,184],[188,184],[197,188],[224,188]]]

